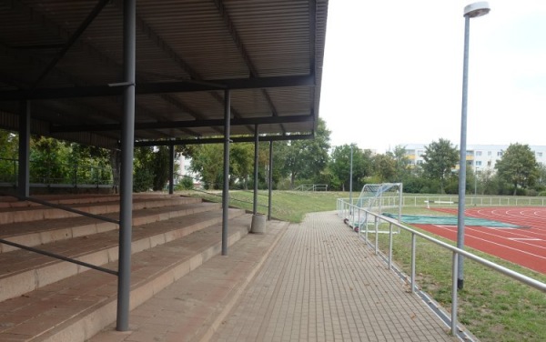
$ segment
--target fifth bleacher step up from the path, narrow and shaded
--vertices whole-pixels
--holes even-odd
[[[104,215],[119,211],[119,200],[111,198],[110,201],[78,202],[69,206],[73,209],[94,215]],[[133,199],[133,210],[159,206],[174,206],[190,203],[199,203],[200,198],[182,196],[136,196]],[[64,204],[65,205],[65,204]],[[0,208],[0,225],[40,221],[45,219],[77,217],[79,214],[49,206],[16,206]]]

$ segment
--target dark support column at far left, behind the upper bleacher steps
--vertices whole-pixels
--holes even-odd
[[[19,108],[19,176],[17,196],[30,194],[30,101],[21,101]]]

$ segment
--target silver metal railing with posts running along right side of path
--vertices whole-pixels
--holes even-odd
[[[485,267],[490,267],[491,269],[501,273],[504,276],[511,277],[527,286],[534,287],[544,293],[546,293],[546,284],[542,283],[541,281],[538,281],[536,279],[533,279],[531,277],[527,277],[525,275],[522,275],[519,272],[516,272],[514,270],[511,270],[507,267],[502,267],[499,264],[493,263],[490,260],[484,259],[483,257],[478,257],[470,252],[467,252],[463,249],[457,248],[456,246],[451,246],[445,242],[442,242],[434,237],[428,236],[426,234],[420,233],[419,231],[412,229],[408,226],[404,226],[399,221],[392,219],[388,216],[382,216],[380,214],[373,213],[367,209],[361,208],[359,206],[353,206],[345,201],[343,198],[338,199],[338,215],[342,216],[344,219],[347,218],[349,222],[354,222],[355,216],[365,215],[366,217],[373,216],[374,219],[374,226],[375,226],[375,253],[376,255],[379,254],[379,246],[378,246],[378,226],[379,221],[384,221],[385,223],[389,224],[389,257],[388,257],[388,267],[389,270],[392,269],[392,236],[393,236],[393,230],[392,226],[397,226],[399,229],[403,229],[407,232],[410,232],[411,234],[411,274],[410,274],[410,287],[411,292],[415,293],[416,285],[415,285],[415,268],[416,268],[416,237],[419,236],[420,238],[423,238],[427,241],[430,241],[442,248],[448,249],[453,253],[452,263],[451,263],[451,334],[456,335],[457,334],[457,309],[458,309],[458,287],[457,287],[457,273],[458,273],[458,259],[459,256],[467,257],[470,260],[473,260]],[[366,218],[366,222],[368,222],[368,218]],[[362,232],[362,229],[359,230],[359,234],[364,235],[364,240],[367,245],[370,245],[369,239],[368,239],[368,225],[366,224],[366,229],[364,232]]]

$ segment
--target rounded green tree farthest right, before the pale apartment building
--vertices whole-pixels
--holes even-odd
[[[534,185],[539,174],[537,160],[529,145],[511,144],[503,153],[495,168],[499,176],[514,187],[515,196],[518,187]]]

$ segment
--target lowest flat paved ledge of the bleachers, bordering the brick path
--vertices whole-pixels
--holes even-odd
[[[268,221],[266,234],[248,234],[228,250],[131,311],[130,331],[112,324],[87,342],[207,341],[238,305],[246,287],[288,229]]]

